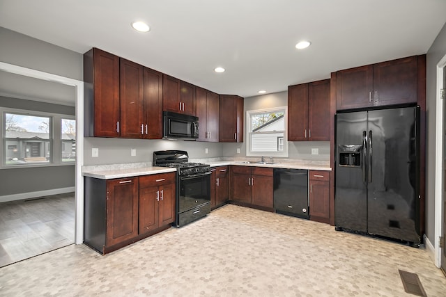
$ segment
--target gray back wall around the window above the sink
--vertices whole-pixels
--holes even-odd
[[[246,116],[246,111],[287,106],[288,92],[247,97],[244,104],[244,116]],[[293,118],[289,118],[288,125],[293,125],[292,121]],[[246,139],[246,130],[243,133],[243,137]],[[246,141],[243,143],[224,143],[223,156],[246,156],[245,143]],[[240,154],[237,153],[237,148],[240,148]],[[312,154],[312,148],[318,148],[319,154]],[[330,161],[330,141],[290,141],[289,159]]]

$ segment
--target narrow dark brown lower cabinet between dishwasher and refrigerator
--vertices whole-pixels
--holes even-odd
[[[309,214],[311,220],[330,223],[330,172],[309,171]]]

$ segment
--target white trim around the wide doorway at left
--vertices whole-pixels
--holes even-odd
[[[84,81],[61,77],[56,74],[33,70],[13,64],[0,62],[0,70],[13,74],[53,81],[67,86],[75,87],[76,96],[76,173],[75,173],[75,243],[84,241],[84,179],[82,178],[82,166],[84,165]]]

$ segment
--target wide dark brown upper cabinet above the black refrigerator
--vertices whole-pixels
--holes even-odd
[[[418,56],[336,72],[337,110],[417,102]]]

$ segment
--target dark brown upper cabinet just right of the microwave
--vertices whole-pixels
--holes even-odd
[[[196,87],[195,115],[199,118],[198,141],[218,142],[219,95]]]

